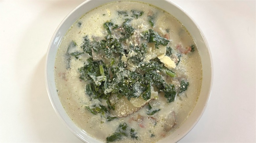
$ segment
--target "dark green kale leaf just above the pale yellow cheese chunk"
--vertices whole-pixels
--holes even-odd
[[[169,43],[169,40],[162,38],[158,33],[154,32],[154,30],[149,29],[149,37],[148,37],[148,42],[152,43],[155,42],[155,47],[156,49],[159,49],[159,45],[167,46]]]

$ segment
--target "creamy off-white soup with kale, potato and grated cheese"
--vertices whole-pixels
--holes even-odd
[[[131,1],[78,19],[61,42],[54,73],[67,114],[102,142],[157,142],[172,134],[202,83],[186,28],[162,9]]]

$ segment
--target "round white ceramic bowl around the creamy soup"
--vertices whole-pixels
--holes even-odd
[[[47,57],[46,57],[46,87],[48,91],[49,98],[53,105],[53,108],[62,122],[83,142],[100,142],[95,138],[89,136],[85,131],[78,128],[75,123],[69,118],[66,111],[64,110],[62,104],[60,103],[59,97],[57,95],[55,81],[54,81],[54,62],[57,53],[57,49],[60,46],[63,36],[66,34],[70,26],[86,12],[93,8],[96,8],[104,3],[108,3],[114,0],[86,0],[81,5],[76,7],[71,11],[64,20],[60,23],[55,33],[53,34],[52,40],[48,47]],[[198,25],[188,16],[188,14],[182,10],[179,6],[167,0],[146,0],[143,1],[154,6],[157,6],[176,17],[189,31],[195,43],[198,47],[199,54],[202,59],[203,68],[203,81],[201,93],[198,102],[188,117],[188,119],[178,128],[173,134],[160,140],[159,142],[178,142],[182,137],[184,137],[192,128],[196,125],[198,120],[201,118],[207,102],[210,97],[212,80],[213,80],[213,68],[212,59],[208,44],[203,36],[202,31]]]

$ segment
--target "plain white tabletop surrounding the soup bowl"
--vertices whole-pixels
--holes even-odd
[[[0,0],[0,142],[81,142],[48,98],[46,51],[83,1]],[[214,84],[197,125],[179,142],[256,142],[256,1],[174,1],[202,29]]]

